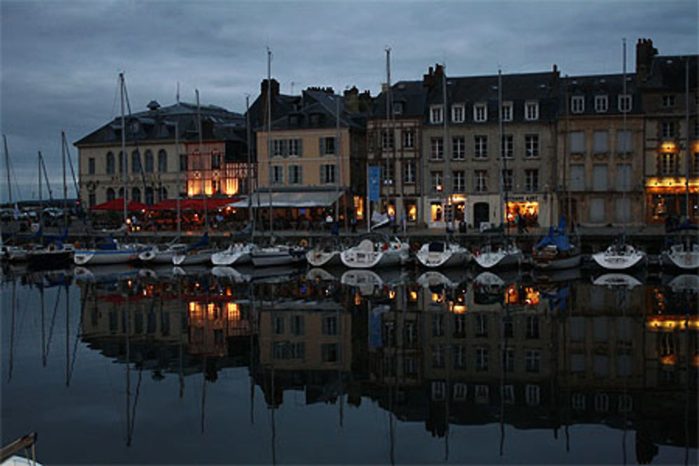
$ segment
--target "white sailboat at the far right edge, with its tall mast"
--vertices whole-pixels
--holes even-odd
[[[684,221],[680,224],[676,231],[678,233],[683,233],[680,235],[679,242],[670,245],[668,249],[665,249],[661,254],[661,261],[663,265],[668,265],[672,268],[678,268],[681,270],[696,270],[699,268],[699,242],[697,236],[697,226],[692,224],[689,220],[689,61],[685,64],[684,70],[684,80],[685,80],[685,128],[686,128],[686,179],[685,179],[685,196],[684,201]],[[687,234],[686,232],[694,231],[693,234]]]

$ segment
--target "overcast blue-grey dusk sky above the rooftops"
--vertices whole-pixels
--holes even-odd
[[[658,1],[1,1],[1,126],[13,198],[36,197],[37,151],[62,193],[61,131],[72,143],[118,115],[124,71],[134,111],[180,100],[244,112],[266,77],[266,47],[282,92],[385,80],[549,71],[629,72],[637,38],[660,54],[696,54],[698,2]],[[3,157],[4,159],[4,157]],[[0,199],[8,195],[1,163]],[[69,176],[69,183],[70,176]],[[69,193],[73,193],[71,189]]]

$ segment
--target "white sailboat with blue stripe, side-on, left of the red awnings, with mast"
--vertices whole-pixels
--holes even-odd
[[[119,73],[119,89],[121,96],[122,107],[122,154],[126,156],[126,116],[124,115],[124,99],[126,94],[126,82],[124,82],[124,73]],[[125,161],[124,161],[125,162]],[[123,164],[124,177],[124,225],[127,224],[127,163]],[[76,265],[98,265],[98,264],[115,264],[127,263],[138,259],[138,254],[143,250],[139,245],[124,245],[113,238],[106,238],[99,243],[97,247],[91,249],[75,249],[73,261]]]

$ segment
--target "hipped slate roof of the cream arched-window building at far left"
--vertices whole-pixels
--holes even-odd
[[[200,112],[203,120],[202,138],[204,140],[239,140],[241,134],[245,135],[245,117],[240,113],[229,112],[225,108],[215,105],[201,105]],[[125,117],[126,139],[129,143],[134,140],[173,140],[175,139],[176,123],[178,138],[182,142],[196,140],[199,138],[196,120],[196,104],[185,102],[178,102],[156,110],[132,113]],[[116,144],[121,140],[121,129],[120,115],[73,144],[76,147]]]

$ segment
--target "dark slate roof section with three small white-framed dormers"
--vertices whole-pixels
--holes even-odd
[[[582,113],[570,112],[571,116],[576,115],[621,115],[619,111],[619,96],[624,94],[624,75],[589,75],[572,76],[561,78],[559,87],[559,117],[565,117],[570,108],[566,108],[566,95],[570,100],[573,96],[584,97],[584,111]],[[642,112],[642,102],[640,92],[636,85],[635,73],[626,74],[626,94],[631,95],[631,111],[626,115],[634,115]],[[595,96],[607,96],[607,111],[595,111]]]

